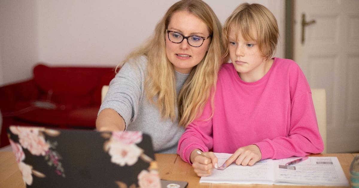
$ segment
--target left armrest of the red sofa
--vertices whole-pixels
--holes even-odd
[[[0,87],[1,112],[13,112],[17,101],[36,100],[39,91],[33,79]]]

